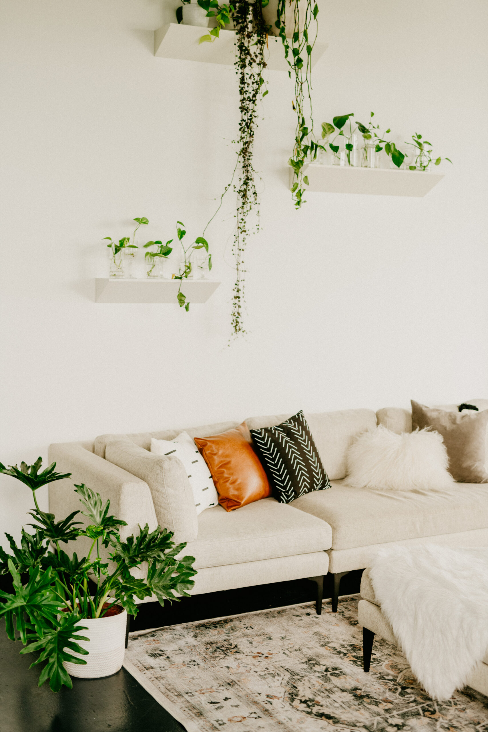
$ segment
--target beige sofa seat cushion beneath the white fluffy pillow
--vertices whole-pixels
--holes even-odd
[[[459,483],[446,491],[377,491],[331,481],[290,506],[330,524],[332,549],[488,528],[488,485]]]

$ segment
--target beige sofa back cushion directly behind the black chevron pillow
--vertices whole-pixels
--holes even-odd
[[[293,417],[292,414],[276,414],[271,417],[249,417],[249,430],[274,427]],[[304,412],[320,460],[331,480],[345,478],[346,453],[356,436],[376,429],[376,415],[372,409],[345,409],[344,411]]]

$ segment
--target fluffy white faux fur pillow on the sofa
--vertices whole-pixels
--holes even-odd
[[[448,473],[443,438],[429,429],[397,435],[379,425],[348,449],[348,477],[353,488],[443,490],[456,483]]]

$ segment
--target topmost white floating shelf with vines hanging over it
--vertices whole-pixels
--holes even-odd
[[[200,26],[184,26],[182,23],[169,23],[154,31],[154,56],[163,59],[186,59],[187,61],[205,61],[207,64],[233,65],[236,58],[235,31],[220,31],[219,37],[213,43],[201,43],[200,38],[209,32],[209,29]],[[312,67],[327,48],[327,43],[315,41],[312,52]],[[274,71],[288,71],[290,68],[285,61],[285,49],[281,38],[268,36],[268,48],[264,51],[264,58],[269,69]]]

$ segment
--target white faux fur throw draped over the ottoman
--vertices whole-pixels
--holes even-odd
[[[369,574],[418,681],[450,698],[488,653],[488,548],[392,547]]]

